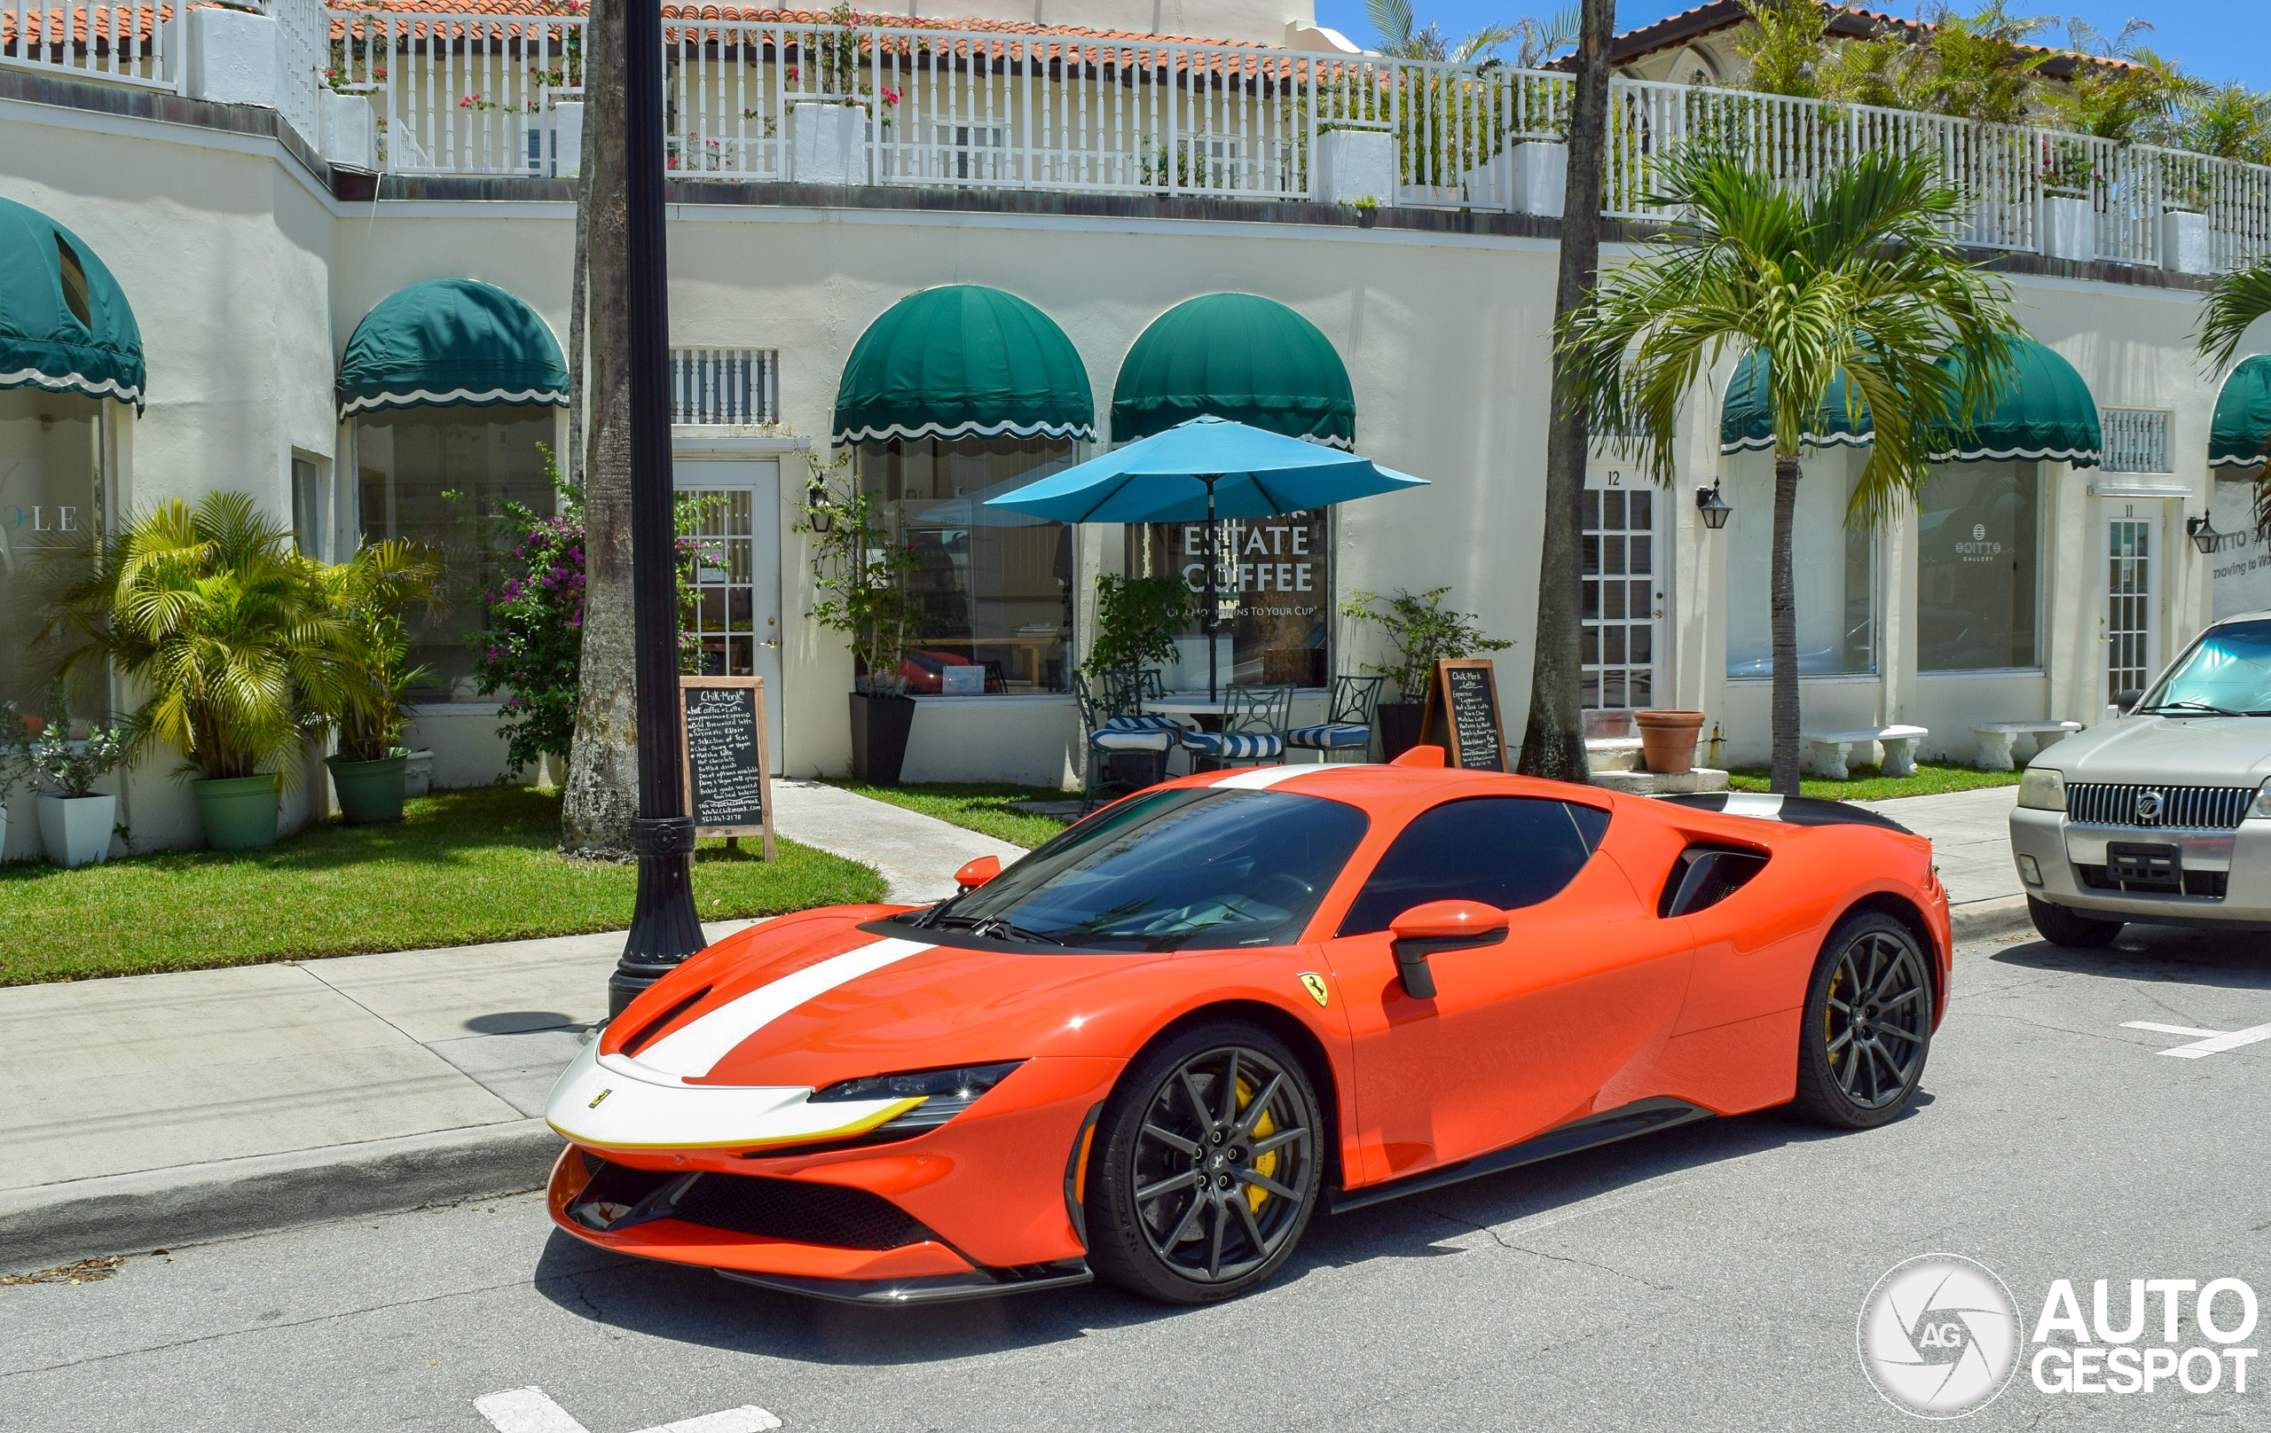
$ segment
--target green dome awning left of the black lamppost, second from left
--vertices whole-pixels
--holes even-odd
[[[338,361],[338,416],[363,409],[568,402],[568,363],[536,309],[479,279],[379,300]]]

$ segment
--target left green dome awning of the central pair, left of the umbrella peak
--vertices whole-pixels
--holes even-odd
[[[911,293],[868,325],[836,386],[836,443],[1088,438],[1097,402],[1065,329],[999,288]]]

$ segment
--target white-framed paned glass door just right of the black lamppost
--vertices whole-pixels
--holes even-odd
[[[702,500],[693,529],[695,602],[686,636],[704,677],[765,679],[765,747],[781,770],[781,463],[677,459],[679,497]]]

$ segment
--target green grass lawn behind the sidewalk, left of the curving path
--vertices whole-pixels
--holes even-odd
[[[452,790],[400,827],[309,827],[266,852],[161,852],[59,870],[0,865],[0,986],[248,965],[284,956],[613,931],[631,865],[554,854],[559,793]],[[695,852],[702,920],[883,899],[883,879],[793,840]]]

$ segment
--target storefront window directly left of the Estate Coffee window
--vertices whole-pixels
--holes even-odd
[[[858,447],[861,488],[890,504],[922,563],[913,695],[1061,693],[1072,636],[1072,529],[988,509],[1076,459],[1072,438],[893,438]]]

